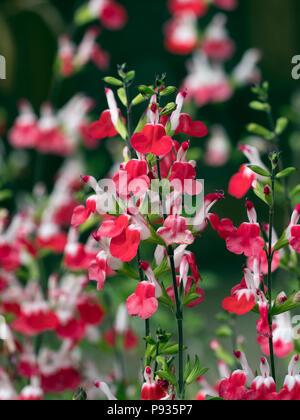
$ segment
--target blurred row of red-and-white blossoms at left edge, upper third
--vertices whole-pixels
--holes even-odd
[[[74,154],[81,141],[94,147],[87,128],[88,111],[94,104],[84,95],[76,95],[59,111],[50,103],[41,108],[40,117],[26,100],[19,103],[19,116],[8,133],[11,145],[17,149],[35,149],[42,154],[69,156]]]

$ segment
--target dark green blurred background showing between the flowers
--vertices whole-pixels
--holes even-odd
[[[162,30],[170,17],[166,1],[119,2],[124,4],[128,11],[128,24],[122,31],[104,31],[101,35],[101,45],[112,56],[109,73],[114,72],[117,64],[127,62],[130,68],[136,70],[137,85],[150,84],[157,73],[166,72],[169,84],[179,86],[186,74],[186,57],[172,55],[164,48]],[[58,36],[66,30],[72,30],[74,39],[81,39],[83,29],[72,27],[74,10],[81,3],[83,2],[78,0],[0,0],[0,54],[7,60],[7,80],[0,81],[0,107],[6,114],[8,127],[17,115],[16,104],[20,98],[27,98],[38,110],[47,100],[60,107],[80,91],[96,100],[95,117],[106,107],[102,82],[104,74],[93,65],[88,65],[83,72],[60,84],[54,85],[53,82]],[[241,0],[238,9],[230,13],[228,21],[229,32],[237,44],[237,53],[232,64],[237,63],[249,47],[262,50],[260,68],[263,78],[270,82],[274,109],[285,114],[291,114],[289,106],[299,88],[299,81],[291,77],[291,59],[300,53],[299,16],[299,0]],[[210,17],[208,14],[203,22],[209,21]],[[211,105],[199,109],[198,117],[207,122],[208,126],[221,123],[235,147],[246,134],[245,125],[258,118],[249,110],[248,103],[251,97],[250,89],[243,89],[225,105]],[[299,164],[299,152],[298,156],[295,152],[291,153],[289,136],[297,129],[296,124],[290,126],[282,146],[284,160],[294,165]],[[5,140],[4,145],[9,150]],[[105,175],[112,163],[105,143],[101,144],[96,152],[84,153],[90,171],[99,178]],[[61,160],[53,156],[42,158],[32,152],[29,156],[29,162],[32,164],[28,165],[20,179],[10,185],[15,196],[21,191],[29,191],[36,176],[34,168],[40,159],[43,159],[40,164],[42,171],[36,180],[46,182],[51,188],[53,176]],[[242,156],[239,153],[234,154],[228,165],[220,169],[204,167],[200,161],[199,178],[205,179],[206,191],[226,191],[230,176],[236,172],[241,161]],[[13,201],[7,205],[13,207]],[[265,210],[262,208],[261,211]],[[221,216],[232,218],[238,224],[244,219],[244,203],[228,197],[219,206],[218,212]],[[278,227],[281,227],[281,224],[282,217],[279,213]],[[187,315],[187,328],[193,333],[192,347],[200,352],[206,361],[209,358],[213,359],[208,342],[219,325],[215,314],[220,311],[222,299],[228,295],[230,288],[241,280],[244,260],[227,252],[223,241],[210,231],[200,238],[194,251],[204,278],[207,299],[192,316]],[[280,273],[276,281],[276,287],[280,291],[288,279]],[[167,326],[163,324],[168,323],[168,318],[159,322],[162,327]],[[256,363],[259,349],[255,344],[254,315],[242,317],[236,329],[238,334],[247,335],[249,358]],[[202,345],[199,348],[197,339],[200,335],[206,337],[206,347]],[[209,373],[212,376],[214,374]]]

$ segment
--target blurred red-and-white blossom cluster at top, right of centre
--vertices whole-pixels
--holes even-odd
[[[172,20],[165,27],[165,45],[174,54],[193,53],[183,88],[188,90],[187,100],[193,99],[197,106],[226,102],[237,87],[254,83],[260,77],[256,67],[260,52],[255,49],[247,51],[241,62],[227,73],[225,63],[233,57],[235,43],[225,28],[225,14],[216,14],[205,30],[199,30],[198,19],[207,14],[212,3],[224,10],[237,6],[236,1],[168,2]]]

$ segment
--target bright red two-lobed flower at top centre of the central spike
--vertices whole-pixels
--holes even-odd
[[[164,156],[171,151],[173,140],[162,125],[146,124],[141,133],[132,136],[131,145],[139,153]]]

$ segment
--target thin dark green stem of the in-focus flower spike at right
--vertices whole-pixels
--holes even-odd
[[[271,330],[271,337],[269,338],[270,346],[270,361],[271,361],[271,370],[272,376],[276,383],[276,369],[275,369],[275,358],[274,358],[274,343],[273,343],[273,316],[272,316],[272,262],[273,262],[273,251],[272,251],[272,239],[273,239],[273,225],[274,225],[274,202],[275,202],[275,169],[272,169],[272,192],[273,192],[273,201],[270,206],[269,212],[269,250],[268,250],[268,293],[269,293],[269,313],[268,321]]]

